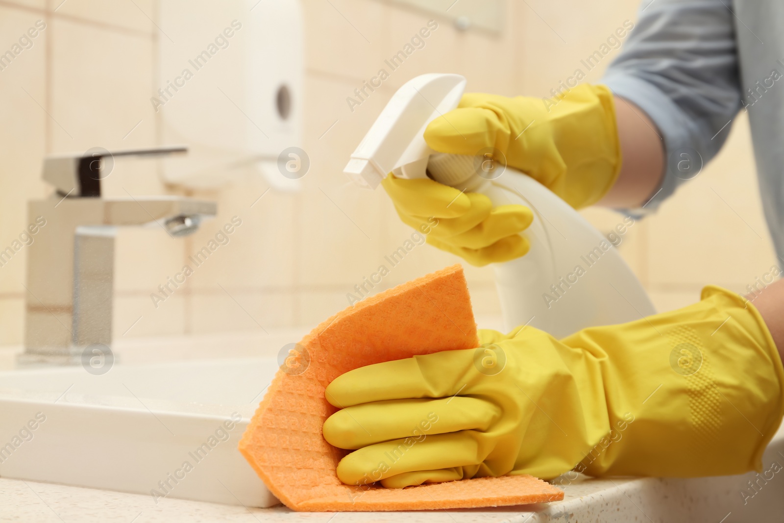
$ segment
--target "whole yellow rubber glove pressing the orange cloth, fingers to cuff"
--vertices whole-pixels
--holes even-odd
[[[568,470],[693,477],[761,470],[784,414],[784,369],[757,310],[706,287],[702,301],[564,340],[481,331],[476,350],[339,376],[324,437],[356,449],[349,485],[386,487]]]

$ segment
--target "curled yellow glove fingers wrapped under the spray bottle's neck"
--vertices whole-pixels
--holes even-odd
[[[493,209],[485,194],[466,194],[427,179],[403,180],[390,174],[382,184],[404,223],[418,231],[429,229],[428,243],[472,265],[514,260],[528,252],[528,240],[518,234],[533,220],[527,207]]]

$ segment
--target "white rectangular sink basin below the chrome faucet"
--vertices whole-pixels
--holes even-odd
[[[237,449],[275,358],[0,372],[0,477],[270,507]]]

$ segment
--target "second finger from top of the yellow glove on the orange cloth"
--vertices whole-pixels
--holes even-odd
[[[500,415],[496,405],[461,396],[375,401],[335,412],[324,422],[323,433],[339,449],[361,449],[400,438],[421,441],[427,434],[484,431]]]

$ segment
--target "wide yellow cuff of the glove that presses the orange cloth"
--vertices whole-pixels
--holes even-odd
[[[706,287],[699,303],[586,329],[564,343],[604,351],[611,425],[633,416],[616,442],[584,463],[587,474],[688,478],[761,470],[784,415],[784,369],[759,312],[741,296]]]

